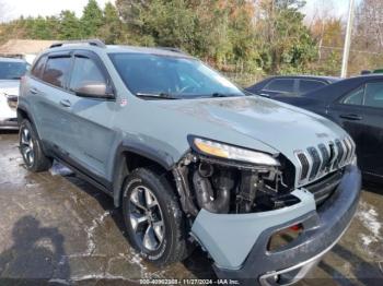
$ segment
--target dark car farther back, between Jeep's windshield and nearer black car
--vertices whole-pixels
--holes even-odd
[[[314,75],[270,76],[249,87],[246,87],[246,91],[271,98],[278,95],[300,96],[302,94],[322,88],[339,80],[339,78]]]

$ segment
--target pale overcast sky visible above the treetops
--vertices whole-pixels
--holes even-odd
[[[115,0],[97,0],[100,7],[104,8],[106,2]],[[357,2],[360,0],[357,0]],[[328,11],[335,16],[345,16],[348,11],[349,0],[306,0],[307,4],[303,9],[309,16],[315,15],[320,9]],[[0,0],[0,11],[5,12],[0,15],[0,19],[5,21],[16,19],[21,15],[37,16],[37,15],[57,15],[61,10],[74,11],[78,16],[81,16],[84,5],[88,0]]]

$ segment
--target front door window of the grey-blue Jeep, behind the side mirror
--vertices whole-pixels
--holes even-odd
[[[88,58],[74,58],[70,90],[78,91],[86,84],[105,84],[105,78],[96,63]]]

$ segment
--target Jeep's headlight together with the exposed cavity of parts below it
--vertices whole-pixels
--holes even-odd
[[[205,139],[190,141],[192,152],[173,171],[187,214],[196,216],[202,208],[216,214],[265,212],[299,202],[291,195],[294,168],[280,154]]]

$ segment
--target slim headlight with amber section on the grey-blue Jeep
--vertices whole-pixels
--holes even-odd
[[[264,166],[280,165],[276,158],[268,154],[251,151],[247,148],[235,147],[224,143],[219,143],[217,141],[194,138],[193,145],[198,152],[214,157],[240,160]]]

